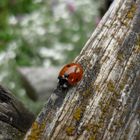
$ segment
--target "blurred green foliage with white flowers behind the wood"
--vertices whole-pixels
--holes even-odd
[[[0,0],[0,83],[37,113],[41,103],[28,98],[17,68],[71,62],[93,32],[99,6],[96,0]]]

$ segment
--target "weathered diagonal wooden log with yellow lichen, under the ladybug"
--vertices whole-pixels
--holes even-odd
[[[115,0],[75,62],[83,80],[57,87],[25,140],[140,139],[140,0]]]

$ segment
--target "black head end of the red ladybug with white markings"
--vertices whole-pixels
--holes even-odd
[[[59,86],[66,89],[70,87],[70,84],[68,82],[68,75],[58,76],[59,80]]]

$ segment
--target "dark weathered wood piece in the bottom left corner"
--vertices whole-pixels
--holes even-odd
[[[12,93],[0,85],[0,140],[19,140],[35,120]]]

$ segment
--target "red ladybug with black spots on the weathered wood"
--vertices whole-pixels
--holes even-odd
[[[83,69],[80,64],[67,64],[59,72],[59,85],[62,88],[76,85],[82,79],[82,76]]]

